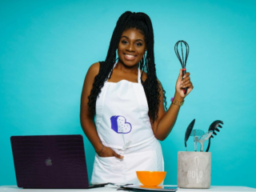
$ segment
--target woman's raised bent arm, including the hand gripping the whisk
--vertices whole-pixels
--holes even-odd
[[[174,99],[179,102],[182,102],[184,98],[193,90],[192,82],[190,82],[190,73],[186,73],[185,78],[182,80],[182,70],[180,70],[180,74],[178,76],[178,80],[176,82],[176,92],[174,94]],[[174,128],[174,124],[178,117],[178,111],[181,106],[174,105],[171,103],[167,112],[164,110],[163,106],[163,90],[161,83],[160,84],[160,106],[158,110],[158,120],[154,123],[151,122],[154,136],[159,140],[163,141],[170,134],[170,131]],[[183,93],[182,88],[188,87],[187,94]]]

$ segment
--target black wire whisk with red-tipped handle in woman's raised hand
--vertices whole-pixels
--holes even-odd
[[[186,53],[183,54],[183,48],[182,48],[182,43],[184,44],[184,46],[186,47]],[[178,52],[178,45],[181,45],[181,50],[182,50],[182,58]],[[176,42],[175,46],[174,46],[174,51],[175,51],[175,54],[179,60],[179,62],[181,62],[182,64],[182,79],[183,79],[183,76],[184,74],[186,74],[186,60],[190,54],[190,46],[189,44],[187,44],[185,41],[178,41]],[[185,56],[185,57],[184,57]],[[185,59],[184,59],[185,58]],[[183,93],[186,94],[186,91],[187,91],[187,87],[185,89],[183,89]]]

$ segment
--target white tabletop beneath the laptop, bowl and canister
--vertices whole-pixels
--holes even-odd
[[[250,187],[246,187],[246,186],[210,186],[210,189],[182,189],[179,188],[178,190],[180,191],[186,191],[186,192],[207,192],[207,191],[218,191],[218,192],[226,192],[226,191],[232,191],[232,192],[238,192],[238,191],[255,191],[255,188],[250,188]],[[16,191],[23,191],[23,192],[32,192],[32,191],[36,191],[36,192],[60,192],[60,191],[65,191],[65,192],[71,192],[71,191],[94,191],[94,192],[114,192],[117,191],[117,187],[116,186],[105,186],[105,187],[99,187],[99,188],[94,188],[94,189],[79,189],[79,190],[73,190],[73,189],[54,189],[54,190],[42,190],[42,189],[22,189],[22,188],[18,188],[18,186],[0,186],[0,192],[16,192]],[[120,192],[122,191],[128,191],[128,190],[118,190]],[[138,191],[138,190],[134,190],[134,191]],[[140,190],[143,192],[150,192],[149,190]]]

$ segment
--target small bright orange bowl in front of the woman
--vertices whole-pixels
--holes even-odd
[[[166,171],[136,171],[136,174],[144,186],[158,186],[166,178]]]

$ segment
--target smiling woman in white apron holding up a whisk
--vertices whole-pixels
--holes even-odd
[[[158,140],[170,134],[193,89],[190,73],[183,78],[180,70],[167,110],[165,90],[156,75],[150,18],[130,11],[122,14],[106,61],[90,66],[82,89],[81,125],[96,151],[91,182],[139,184],[136,170],[164,170]]]

